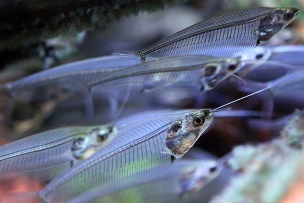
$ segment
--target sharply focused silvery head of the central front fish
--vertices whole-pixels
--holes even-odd
[[[213,118],[211,109],[202,109],[186,113],[183,119],[171,124],[165,143],[172,161],[181,158],[195,144]]]

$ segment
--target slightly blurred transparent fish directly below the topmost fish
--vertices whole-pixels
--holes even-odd
[[[237,58],[221,58],[202,55],[163,58],[133,65],[127,69],[100,77],[88,84],[91,91],[119,98],[131,87],[132,93],[153,93],[187,88],[200,92],[210,90],[240,69]],[[181,95],[183,96],[183,95]],[[132,96],[131,96],[132,97]]]

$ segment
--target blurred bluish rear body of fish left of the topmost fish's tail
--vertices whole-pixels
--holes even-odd
[[[136,62],[129,58],[104,56],[77,62],[67,63],[52,69],[26,76],[19,80],[8,82],[1,86],[15,101],[27,103],[32,101],[48,101],[54,97],[65,97],[77,92],[83,95],[83,103],[89,115],[92,115],[93,100],[85,86],[91,80],[96,80],[106,73]]]

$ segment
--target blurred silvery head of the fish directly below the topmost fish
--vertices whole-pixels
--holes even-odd
[[[241,60],[239,58],[218,58],[217,61],[206,64],[205,72],[199,81],[201,91],[213,89],[241,67]]]

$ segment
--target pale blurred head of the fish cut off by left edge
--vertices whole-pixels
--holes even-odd
[[[73,142],[73,157],[80,160],[89,158],[108,145],[117,136],[117,132],[117,127],[111,125],[88,127],[86,136]]]

